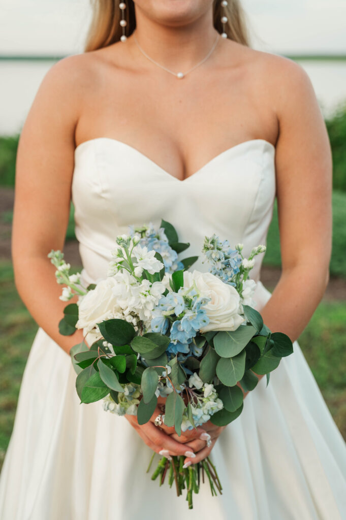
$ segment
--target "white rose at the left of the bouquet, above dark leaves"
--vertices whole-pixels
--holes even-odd
[[[117,284],[116,279],[106,278],[82,298],[79,304],[79,319],[76,323],[78,329],[86,329],[86,332],[89,332],[96,323],[121,313],[118,298],[113,294]]]

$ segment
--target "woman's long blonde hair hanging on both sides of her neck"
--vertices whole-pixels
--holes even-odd
[[[86,37],[85,51],[107,47],[120,41],[122,27],[120,26],[120,0],[91,0],[93,19]],[[227,16],[225,32],[227,38],[242,45],[250,46],[246,14],[240,0],[228,0],[226,7],[221,6],[221,0],[214,0],[214,28],[222,33],[221,16]],[[126,36],[130,36],[136,27],[135,6],[133,0],[127,0],[125,9]]]

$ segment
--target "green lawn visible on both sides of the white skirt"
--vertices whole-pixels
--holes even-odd
[[[37,325],[21,302],[10,263],[0,263],[0,465],[12,431],[20,383]],[[322,302],[299,343],[346,439],[346,303]]]

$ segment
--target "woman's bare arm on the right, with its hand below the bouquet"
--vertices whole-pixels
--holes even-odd
[[[282,274],[261,315],[273,332],[284,332],[294,341],[321,301],[329,279],[332,159],[309,76],[286,58],[273,56],[272,65],[266,76],[271,78],[270,106],[279,125],[275,162]],[[208,422],[203,427],[212,444],[188,462],[206,458],[226,426]],[[195,442],[190,446],[195,448]]]

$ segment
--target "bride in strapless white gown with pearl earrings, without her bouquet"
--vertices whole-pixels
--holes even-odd
[[[324,294],[331,250],[330,145],[309,77],[249,46],[238,0],[96,0],[94,9],[86,52],[49,70],[20,137],[12,253],[39,330],[0,517],[346,518],[346,445],[296,341]],[[239,418],[178,437],[155,425],[159,410],[140,426],[100,402],[80,405],[69,350],[82,331],[58,332],[65,303],[47,258],[63,248],[71,198],[92,283],[106,277],[117,235],[161,218],[191,256],[213,232],[249,253],[265,243],[275,197],[282,275],[271,295],[259,260],[254,300],[294,353],[246,395]],[[187,512],[145,474],[152,450],[184,454],[186,465],[211,453],[223,495],[201,486]]]

